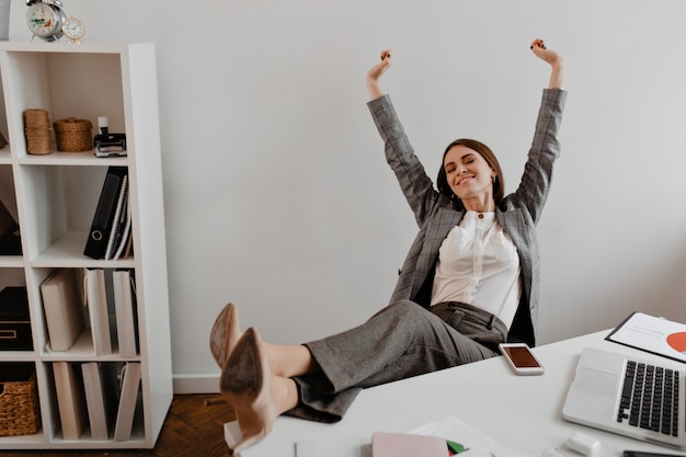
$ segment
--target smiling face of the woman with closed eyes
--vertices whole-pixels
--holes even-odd
[[[443,167],[448,185],[465,204],[493,199],[495,172],[479,152],[464,145],[454,146],[446,152]]]

